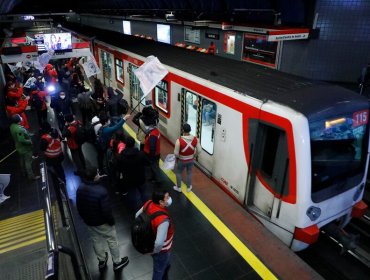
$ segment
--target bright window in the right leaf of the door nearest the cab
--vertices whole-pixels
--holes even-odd
[[[202,99],[202,129],[200,144],[209,154],[213,154],[213,144],[216,128],[217,106],[214,102]]]

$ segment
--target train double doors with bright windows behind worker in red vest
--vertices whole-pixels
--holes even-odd
[[[182,96],[181,126],[190,124],[190,133],[198,137],[203,150],[197,159],[198,163],[211,175],[217,105],[186,89],[183,89]]]

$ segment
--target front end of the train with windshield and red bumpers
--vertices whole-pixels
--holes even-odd
[[[369,102],[339,87],[317,90],[318,98],[313,96],[303,110],[311,147],[311,174],[305,180],[311,188],[297,184],[294,251],[315,242],[320,230],[339,234],[352,217],[366,211],[361,199],[369,161]]]

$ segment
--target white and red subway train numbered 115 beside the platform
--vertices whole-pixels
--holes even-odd
[[[163,138],[191,125],[196,165],[294,251],[325,226],[342,229],[366,210],[369,102],[342,87],[153,40],[89,27],[106,86],[132,108],[159,111]],[[167,76],[143,93],[134,70],[149,55]],[[165,155],[163,155],[165,156]]]

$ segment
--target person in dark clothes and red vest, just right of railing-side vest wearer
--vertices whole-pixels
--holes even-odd
[[[64,127],[62,136],[67,138],[67,145],[71,151],[73,163],[76,165],[75,175],[81,176],[86,169],[85,157],[82,153],[81,145],[76,141],[77,129],[79,122],[74,119],[73,115],[65,116],[66,126]]]

